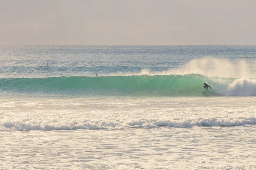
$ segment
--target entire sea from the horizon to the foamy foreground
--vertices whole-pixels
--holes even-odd
[[[0,169],[254,169],[255,57],[256,46],[0,46]]]

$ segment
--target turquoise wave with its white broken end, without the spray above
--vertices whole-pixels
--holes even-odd
[[[214,89],[203,92],[203,83]],[[0,94],[30,96],[256,96],[256,79],[185,75],[2,78]]]

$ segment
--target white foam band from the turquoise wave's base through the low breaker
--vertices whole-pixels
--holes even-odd
[[[253,101],[254,97],[2,101],[0,131],[256,125]]]

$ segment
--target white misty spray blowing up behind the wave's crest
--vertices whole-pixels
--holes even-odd
[[[256,62],[248,63],[244,59],[221,59],[214,57],[196,58],[178,68],[165,71],[150,71],[143,69],[139,74],[116,75],[186,75],[200,74],[205,77],[250,77],[256,78]]]

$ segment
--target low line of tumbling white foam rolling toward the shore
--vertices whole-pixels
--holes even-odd
[[[38,119],[38,118],[6,118],[0,117],[0,131],[23,130],[73,130],[73,129],[109,129],[122,130],[128,128],[156,128],[156,127],[194,127],[194,126],[243,126],[256,125],[255,117],[224,117],[224,118],[176,118],[176,119]]]

